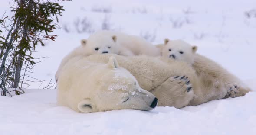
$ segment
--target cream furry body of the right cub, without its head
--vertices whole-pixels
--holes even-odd
[[[196,71],[201,88],[207,91],[207,94],[199,95],[201,99],[195,99],[191,101],[191,104],[228,97],[244,96],[251,91],[240,79],[213,60],[199,54],[195,54],[194,56],[194,64],[192,64],[192,67]]]

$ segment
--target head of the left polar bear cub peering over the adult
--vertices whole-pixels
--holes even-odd
[[[118,44],[116,42],[117,38],[115,35],[91,35],[87,40],[82,39],[81,45],[87,55],[105,53],[118,54]]]

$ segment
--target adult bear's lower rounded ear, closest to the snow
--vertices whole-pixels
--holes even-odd
[[[92,103],[90,98],[86,98],[78,103],[77,108],[82,113],[95,112],[96,106]]]

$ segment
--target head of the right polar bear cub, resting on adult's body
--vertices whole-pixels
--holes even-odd
[[[165,39],[164,45],[161,48],[161,55],[193,64],[196,51],[197,46],[192,46],[183,40]]]

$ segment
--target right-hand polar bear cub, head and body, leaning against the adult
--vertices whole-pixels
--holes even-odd
[[[245,86],[241,80],[219,64],[209,58],[196,54],[197,46],[192,46],[182,40],[170,41],[169,39],[165,39],[164,44],[156,46],[161,50],[161,56],[164,58],[174,59],[173,57],[170,57],[173,51],[174,55],[180,50],[187,50],[184,51],[184,54],[187,52],[187,54],[190,54],[182,59],[179,59],[181,55],[177,55],[175,60],[191,64],[193,69],[196,71],[197,79],[199,80],[198,83],[200,83],[201,89],[208,92],[208,94],[200,94],[199,92],[197,97],[200,98],[194,98],[194,100],[190,102],[191,105],[221,98],[243,96],[251,91],[250,88]],[[169,49],[171,49],[171,51]],[[197,89],[195,89],[195,91],[196,90]]]

